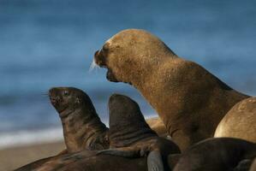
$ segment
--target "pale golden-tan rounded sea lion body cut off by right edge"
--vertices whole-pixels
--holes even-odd
[[[256,143],[256,97],[249,97],[229,110],[214,137],[233,137]]]

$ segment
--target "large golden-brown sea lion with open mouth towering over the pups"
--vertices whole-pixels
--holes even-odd
[[[248,97],[144,30],[118,32],[96,51],[94,61],[108,69],[108,80],[140,91],[182,150],[212,137],[223,115]]]

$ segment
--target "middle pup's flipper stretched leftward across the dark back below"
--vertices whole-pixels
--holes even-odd
[[[116,149],[108,149],[108,150],[99,150],[97,155],[105,154],[111,156],[123,156],[123,157],[134,157],[136,156],[136,151],[134,148],[130,147],[123,147],[123,148],[116,148]]]

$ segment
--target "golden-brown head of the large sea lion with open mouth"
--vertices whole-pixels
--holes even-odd
[[[94,61],[108,69],[108,80],[133,84],[133,80],[151,74],[170,56],[176,55],[156,36],[144,30],[127,29],[107,40],[95,52]]]

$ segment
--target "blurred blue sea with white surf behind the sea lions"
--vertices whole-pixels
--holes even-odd
[[[114,92],[156,115],[130,85],[89,72],[92,57],[126,28],[157,35],[171,50],[208,69],[238,91],[256,95],[256,2],[253,0],[0,0],[0,149],[63,139],[44,93],[75,86],[108,123]],[[202,78],[204,79],[204,78]]]

